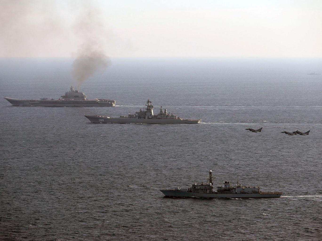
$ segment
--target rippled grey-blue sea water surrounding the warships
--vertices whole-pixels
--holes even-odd
[[[0,99],[1,240],[321,240],[321,59],[112,59],[80,90],[115,107]],[[0,61],[0,96],[59,98],[71,60]],[[150,99],[198,125],[92,124]],[[253,133],[245,128],[260,128]],[[288,136],[281,131],[307,131]],[[171,199],[206,181],[279,199]]]

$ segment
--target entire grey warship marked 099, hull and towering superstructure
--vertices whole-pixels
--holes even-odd
[[[128,114],[128,116],[120,116],[118,118],[101,116],[101,115],[85,115],[92,123],[137,123],[137,124],[198,124],[201,120],[184,120],[174,114],[169,114],[166,109],[160,108],[157,115],[153,114],[153,105],[147,100],[145,110]]]

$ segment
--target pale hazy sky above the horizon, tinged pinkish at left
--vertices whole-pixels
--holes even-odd
[[[322,1],[0,0],[0,57],[322,57]]]

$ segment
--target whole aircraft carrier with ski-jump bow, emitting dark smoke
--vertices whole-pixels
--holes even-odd
[[[115,100],[107,99],[94,99],[87,100],[86,94],[78,90],[74,90],[73,86],[70,87],[70,91],[66,92],[58,100],[42,98],[39,100],[21,100],[5,97],[12,105],[19,106],[114,106]]]

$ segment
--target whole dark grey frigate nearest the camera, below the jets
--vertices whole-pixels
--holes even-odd
[[[213,190],[212,171],[209,171],[208,182],[194,183],[189,188],[160,189],[166,197],[198,197],[198,198],[279,198],[283,192],[262,192],[260,187],[244,187],[237,179],[237,185],[224,182],[224,186]]]

